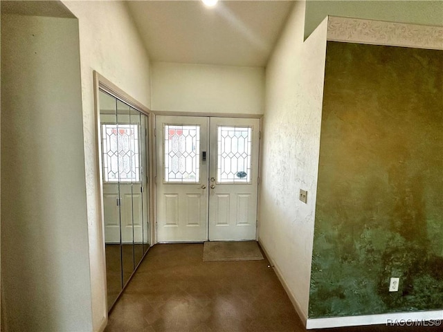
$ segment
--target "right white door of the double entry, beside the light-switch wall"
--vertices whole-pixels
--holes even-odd
[[[210,240],[256,238],[259,132],[258,119],[210,119]]]

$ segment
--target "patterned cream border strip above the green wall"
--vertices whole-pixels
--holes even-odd
[[[443,26],[329,16],[327,40],[443,50]]]

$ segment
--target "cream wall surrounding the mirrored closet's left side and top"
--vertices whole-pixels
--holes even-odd
[[[93,71],[98,71],[125,93],[150,107],[150,60],[125,3],[121,1],[63,1],[78,17],[84,126],[89,252],[93,329],[105,322],[105,269],[102,252],[98,187],[96,114]]]

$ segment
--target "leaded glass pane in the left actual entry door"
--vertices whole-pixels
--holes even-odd
[[[165,182],[198,183],[200,126],[165,125]]]

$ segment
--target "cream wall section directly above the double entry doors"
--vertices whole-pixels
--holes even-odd
[[[152,109],[262,114],[264,68],[152,64]]]

